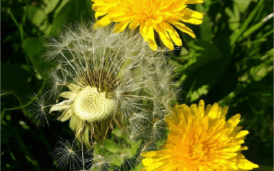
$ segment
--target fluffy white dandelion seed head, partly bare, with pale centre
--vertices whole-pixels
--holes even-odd
[[[119,169],[123,163],[134,168],[138,162],[131,159],[138,154],[140,139],[156,142],[162,136],[151,136],[147,128],[170,110],[173,67],[164,53],[153,53],[140,34],[93,27],[78,23],[46,44],[46,60],[55,68],[49,71],[51,87],[45,99],[54,98],[49,112],[59,114],[61,122],[69,120],[77,140],[92,153],[90,170]],[[157,122],[155,130],[163,125]],[[115,162],[122,151],[114,151],[121,146],[134,150],[125,149],[124,160]]]

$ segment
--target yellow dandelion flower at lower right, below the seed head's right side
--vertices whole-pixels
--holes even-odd
[[[175,105],[166,117],[169,136],[158,151],[142,153],[144,170],[252,170],[259,166],[245,159],[240,151],[248,131],[238,127],[240,114],[225,120],[228,107]]]

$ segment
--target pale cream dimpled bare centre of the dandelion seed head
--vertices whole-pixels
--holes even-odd
[[[96,122],[108,118],[112,114],[114,104],[113,100],[105,98],[105,92],[98,92],[97,88],[86,86],[75,97],[73,111],[80,120]]]

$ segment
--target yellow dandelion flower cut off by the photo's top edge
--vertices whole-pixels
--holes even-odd
[[[114,31],[119,33],[127,25],[129,29],[139,26],[140,34],[153,51],[157,49],[154,30],[159,34],[164,45],[174,49],[173,42],[182,46],[182,40],[173,27],[195,38],[193,31],[182,22],[199,25],[203,13],[186,8],[187,4],[203,3],[202,0],[91,0],[95,18],[103,16],[95,27],[105,27],[111,22],[119,23]]]

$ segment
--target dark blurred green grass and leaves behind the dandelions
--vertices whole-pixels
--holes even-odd
[[[73,139],[69,122],[49,118],[36,127],[29,119],[34,94],[47,90],[49,64],[41,58],[46,39],[75,21],[92,21],[88,0],[1,1],[1,170],[57,170],[53,148]],[[205,0],[190,8],[206,15],[181,33],[183,47],[169,60],[179,103],[228,105],[249,130],[242,153],[257,170],[273,170],[273,1]]]

